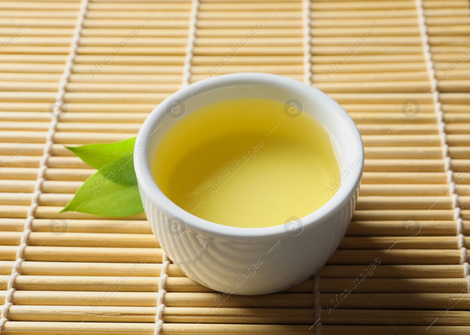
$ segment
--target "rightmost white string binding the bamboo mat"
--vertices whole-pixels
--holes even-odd
[[[467,262],[467,248],[465,246],[465,236],[463,235],[462,218],[460,217],[459,197],[455,194],[455,183],[454,183],[454,172],[451,170],[451,159],[449,157],[449,146],[446,143],[446,124],[444,122],[444,112],[441,109],[441,103],[439,102],[439,91],[436,89],[438,80],[436,78],[436,72],[434,71],[434,62],[432,61],[431,51],[429,48],[429,36],[427,33],[427,26],[424,18],[423,0],[416,0],[416,11],[418,14],[418,21],[421,30],[421,36],[423,39],[423,54],[426,61],[426,66],[429,73],[429,79],[431,81],[432,88],[429,93],[432,93],[432,100],[435,106],[439,125],[439,137],[442,144],[442,158],[444,159],[444,169],[447,173],[447,186],[449,187],[449,193],[452,197],[452,209],[454,209],[454,221],[456,222],[456,235],[458,237],[458,248],[460,249],[460,263],[463,264],[463,277],[467,278],[467,292],[470,293],[470,275],[469,275],[469,263]]]

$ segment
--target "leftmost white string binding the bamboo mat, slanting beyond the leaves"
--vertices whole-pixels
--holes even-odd
[[[0,333],[3,331],[3,327],[5,322],[8,321],[8,310],[11,305],[13,305],[13,293],[15,292],[15,280],[16,277],[20,274],[21,271],[21,263],[23,263],[24,259],[24,249],[27,246],[28,238],[31,233],[31,222],[34,219],[34,213],[38,207],[38,200],[39,195],[41,194],[41,186],[44,182],[44,173],[47,169],[47,160],[51,156],[51,147],[53,144],[54,134],[55,134],[55,127],[57,125],[57,119],[62,112],[63,106],[63,96],[65,94],[65,86],[69,81],[69,76],[71,74],[71,69],[73,66],[73,60],[76,56],[76,50],[78,45],[78,39],[80,38],[80,32],[82,30],[82,24],[84,20],[84,15],[86,14],[86,9],[88,7],[88,0],[82,0],[80,12],[78,13],[77,23],[75,26],[75,31],[73,34],[73,38],[71,40],[71,47],[70,53],[67,57],[67,61],[65,63],[65,69],[59,83],[59,88],[55,100],[55,109],[54,115],[52,120],[49,124],[49,131],[47,132],[46,136],[46,144],[44,146],[44,153],[39,163],[39,171],[38,171],[38,180],[34,185],[34,192],[31,198],[31,206],[28,209],[28,215],[26,217],[26,221],[24,223],[23,234],[21,235],[20,245],[16,251],[16,261],[13,263],[13,269],[11,271],[11,275],[8,278],[8,287],[7,287],[7,294],[5,296],[5,303],[3,304],[1,310],[1,319],[0,319]]]

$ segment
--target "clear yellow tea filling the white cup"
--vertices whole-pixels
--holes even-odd
[[[282,102],[267,99],[185,115],[163,136],[153,164],[158,187],[176,205],[246,228],[312,213],[335,194],[339,176],[323,126],[306,112],[288,117]]]

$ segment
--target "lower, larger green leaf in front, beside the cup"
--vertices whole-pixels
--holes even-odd
[[[99,168],[60,212],[127,216],[143,210],[134,160],[131,155],[126,155]]]

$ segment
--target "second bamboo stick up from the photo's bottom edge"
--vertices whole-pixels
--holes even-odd
[[[8,319],[12,321],[62,321],[76,322],[84,318],[87,322],[152,322],[157,312],[156,307],[100,307],[95,310],[89,306],[11,306]],[[384,324],[393,320],[395,325],[428,325],[429,321],[445,319],[438,325],[469,325],[466,318],[468,311],[380,311],[341,310],[333,315],[323,310],[323,324],[355,324],[358,319],[368,320],[368,324]],[[385,316],[386,315],[386,316]],[[384,316],[386,319],[384,319]],[[411,317],[410,317],[411,316]],[[437,318],[436,318],[437,317]],[[204,323],[266,323],[270,319],[276,324],[312,324],[315,322],[312,310],[306,309],[263,309],[256,308],[201,308],[201,307],[165,307],[163,319],[166,322],[197,323],[204,318]],[[392,321],[390,321],[392,322]],[[360,321],[363,324],[363,321]]]

